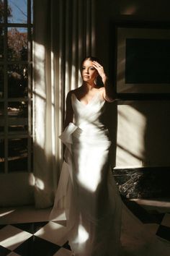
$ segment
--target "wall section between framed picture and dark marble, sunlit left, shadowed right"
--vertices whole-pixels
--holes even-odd
[[[118,106],[117,167],[170,166],[169,101]]]

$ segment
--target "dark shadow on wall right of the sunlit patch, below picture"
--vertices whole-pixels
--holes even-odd
[[[146,117],[143,166],[170,166],[169,101],[137,101],[132,106]]]

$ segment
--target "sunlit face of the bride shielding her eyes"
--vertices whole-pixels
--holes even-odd
[[[86,59],[81,67],[81,77],[84,82],[94,82],[97,78],[98,72],[97,69],[93,67],[93,61]]]

